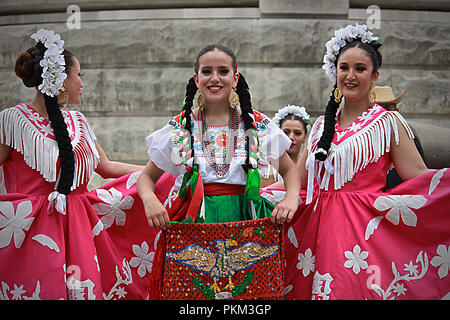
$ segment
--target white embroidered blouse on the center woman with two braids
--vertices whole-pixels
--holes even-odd
[[[178,156],[179,146],[177,145],[175,137],[176,131],[180,130],[180,124],[175,117],[163,128],[153,132],[147,137],[148,155],[155,165],[161,170],[177,177],[175,181],[175,189],[178,190],[184,173],[185,166]],[[261,176],[267,168],[269,160],[276,161],[283,153],[289,149],[291,144],[290,139],[285,133],[278,128],[267,116],[254,111],[255,124],[258,132],[259,151],[258,151],[258,171]],[[239,132],[237,138],[236,150],[234,157],[231,160],[230,168],[223,178],[218,178],[212,166],[209,164],[207,157],[203,154],[200,129],[201,122],[193,114],[191,114],[191,123],[193,123],[194,132],[194,155],[195,161],[199,166],[199,174],[202,177],[203,183],[228,183],[243,185],[246,182],[247,175],[242,169],[247,157],[245,149],[245,128],[242,121],[239,122]],[[209,141],[214,147],[215,154],[223,154],[225,157],[226,148],[226,133],[228,126],[209,126],[208,135]]]

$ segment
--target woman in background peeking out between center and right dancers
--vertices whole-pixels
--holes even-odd
[[[308,126],[311,126],[309,114],[306,112],[305,107],[288,104],[275,113],[272,121],[291,140],[291,145],[286,152],[294,164],[296,164],[300,157],[302,147],[306,142]],[[276,168],[268,165],[264,177],[261,178],[261,187],[283,188],[284,184],[282,179]]]

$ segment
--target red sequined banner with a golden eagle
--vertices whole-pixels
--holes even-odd
[[[175,223],[166,232],[162,299],[282,299],[281,241],[268,218]]]

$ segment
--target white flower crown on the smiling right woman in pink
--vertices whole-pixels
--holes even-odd
[[[347,43],[352,42],[355,39],[360,39],[363,43],[372,43],[378,40],[378,37],[374,36],[371,31],[367,31],[365,24],[358,24],[348,26],[334,31],[334,37],[332,37],[326,44],[327,53],[323,56],[322,69],[325,70],[328,78],[333,83],[336,83],[336,61],[339,51]]]

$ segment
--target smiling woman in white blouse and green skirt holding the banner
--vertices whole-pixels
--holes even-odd
[[[199,107],[194,108],[196,94]],[[286,153],[290,140],[252,109],[248,85],[226,47],[210,45],[200,51],[182,113],[151,134],[147,144],[150,160],[138,192],[152,227],[169,228],[171,220],[229,222],[266,216],[282,224],[297,210],[299,178]],[[264,172],[269,158],[278,159],[279,172],[287,179],[286,197],[275,208],[259,196],[259,170]],[[189,184],[198,192],[192,191],[190,201],[169,204],[169,214],[154,195],[163,172],[177,177],[177,190]]]

